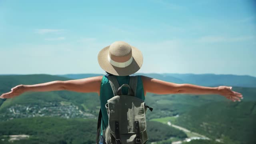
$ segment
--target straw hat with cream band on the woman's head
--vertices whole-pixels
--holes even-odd
[[[100,67],[116,76],[128,76],[137,72],[143,62],[142,53],[126,42],[117,41],[103,48],[98,54]]]

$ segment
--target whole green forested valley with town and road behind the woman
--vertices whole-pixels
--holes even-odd
[[[15,75],[0,76],[0,80],[0,92],[3,93],[20,83],[70,78]],[[148,93],[145,102],[154,108],[146,114],[148,142],[253,144],[256,142],[253,136],[256,133],[253,121],[256,119],[256,88],[234,86],[233,89],[244,95],[242,102],[231,102],[218,95]],[[29,138],[14,140],[14,144],[43,143],[46,138],[55,143],[94,143],[99,108],[99,97],[95,93],[28,92],[12,99],[0,99],[0,138],[4,139],[4,144],[9,144],[12,135],[20,134]]]

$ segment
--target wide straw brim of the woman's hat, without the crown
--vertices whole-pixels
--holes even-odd
[[[110,64],[110,62],[108,61],[109,47],[110,46],[106,46],[98,54],[98,62],[103,70],[116,76],[128,76],[140,70],[143,63],[143,56],[138,48],[131,46],[133,57],[132,63],[125,68],[118,68]]]

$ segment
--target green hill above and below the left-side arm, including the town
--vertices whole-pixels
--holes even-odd
[[[0,93],[9,92],[18,84],[38,84],[54,80],[70,80],[46,74],[0,76]],[[0,99],[0,121],[30,116],[61,116],[92,118],[100,106],[96,93],[70,91],[26,92],[12,99]]]

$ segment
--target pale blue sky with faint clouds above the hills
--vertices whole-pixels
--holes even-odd
[[[142,73],[256,76],[253,0],[0,0],[0,74],[103,73],[114,41]]]

